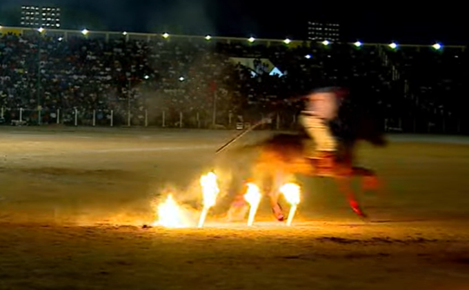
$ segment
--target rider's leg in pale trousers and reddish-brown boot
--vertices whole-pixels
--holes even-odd
[[[314,139],[315,148],[306,148],[307,158],[318,158],[319,167],[332,167],[334,165],[337,143],[326,122],[317,116],[301,115],[300,121],[308,135]]]

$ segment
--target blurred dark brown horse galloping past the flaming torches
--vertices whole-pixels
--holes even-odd
[[[354,153],[359,141],[366,141],[375,147],[385,147],[388,141],[382,128],[372,110],[366,110],[363,106],[343,105],[337,121],[331,124],[339,149],[335,165],[330,172],[319,172],[315,162],[305,158],[305,146],[311,140],[304,131],[297,134],[274,134],[258,143],[244,145],[238,150],[244,152],[246,149],[258,149],[259,154],[251,167],[252,178],[262,181],[263,191],[270,197],[270,206],[277,220],[284,218],[278,203],[279,187],[295,174],[334,178],[355,214],[367,219],[367,214],[361,209],[352,190],[352,177],[362,178],[363,190],[377,190],[380,184],[372,169],[355,165]],[[237,198],[232,208],[240,206],[240,198]]]

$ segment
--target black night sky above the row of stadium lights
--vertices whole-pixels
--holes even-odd
[[[340,21],[343,34],[350,41],[466,43],[468,28],[461,4],[437,2],[438,5],[419,6],[409,2],[404,5],[395,1],[368,1],[375,3],[370,6],[360,1],[349,2],[338,5],[335,1],[304,0],[277,1],[278,4],[254,0],[0,0],[0,12],[22,3],[42,3],[68,10],[65,16],[73,18],[70,25],[90,29],[96,25],[122,31],[169,30],[292,39],[303,39],[308,20],[323,19]],[[0,23],[8,25],[1,19]]]

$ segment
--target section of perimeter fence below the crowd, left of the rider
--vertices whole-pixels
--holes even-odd
[[[264,114],[238,115],[225,112],[179,112],[177,110],[30,110],[0,108],[0,123],[3,125],[70,125],[99,127],[179,127],[234,129],[256,123]],[[264,129],[292,129],[296,125],[295,114],[277,114]]]

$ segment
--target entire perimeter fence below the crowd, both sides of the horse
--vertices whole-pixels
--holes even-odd
[[[260,113],[232,114],[219,112],[179,112],[177,110],[29,110],[0,108],[3,125],[99,126],[99,127],[170,127],[199,129],[240,129],[257,123],[266,115]],[[260,129],[292,130],[298,127],[292,112],[279,112]],[[395,133],[469,134],[469,123],[461,118],[385,118],[383,130]]]

